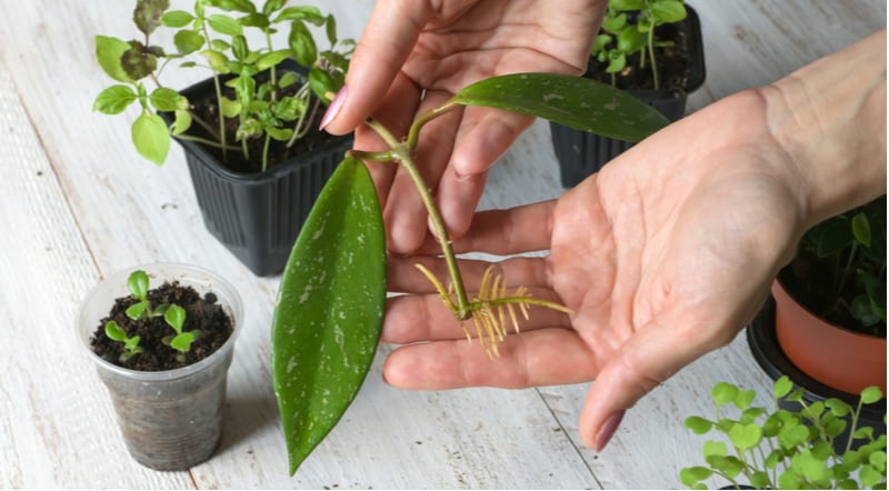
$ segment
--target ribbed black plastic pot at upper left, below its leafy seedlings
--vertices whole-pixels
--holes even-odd
[[[288,60],[282,71],[306,70]],[[214,97],[212,79],[180,93],[190,101]],[[161,114],[168,122],[170,114]],[[177,140],[186,152],[204,227],[257,275],[281,272],[302,223],[352,136],[331,137],[309,153],[279,163],[264,173],[233,172],[202,144]]]

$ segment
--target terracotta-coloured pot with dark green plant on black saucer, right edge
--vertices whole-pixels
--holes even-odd
[[[789,375],[809,402],[852,403],[869,385],[885,393],[885,196],[806,232],[747,339],[763,370]],[[885,408],[861,414],[881,434]]]

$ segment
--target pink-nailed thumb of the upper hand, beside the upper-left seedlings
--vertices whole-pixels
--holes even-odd
[[[327,131],[348,133],[379,108],[380,94],[392,86],[430,16],[426,1],[377,2],[349,63],[346,86],[337,96],[340,100],[331,103],[324,117]]]

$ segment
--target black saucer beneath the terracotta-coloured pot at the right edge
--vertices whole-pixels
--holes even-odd
[[[803,389],[803,400],[806,403],[836,398],[845,401],[852,408],[858,405],[857,394],[850,394],[825,385],[806,374],[806,372],[799,370],[787,358],[780,344],[778,344],[778,337],[775,333],[775,300],[771,297],[769,297],[766,304],[759,313],[757,313],[753,322],[748,325],[747,343],[750,347],[753,358],[772,380],[778,380],[782,375],[787,375],[795,384]],[[843,360],[837,360],[837,362],[842,363]],[[798,411],[800,409],[798,402],[786,401],[781,402],[781,408],[790,411]],[[885,414],[886,399],[872,404],[865,404],[861,408],[858,427],[873,428],[875,437],[886,434]],[[848,430],[833,440],[833,448],[837,450],[837,453],[842,454],[848,441]],[[852,449],[860,447],[862,443],[865,443],[863,440],[852,442]]]

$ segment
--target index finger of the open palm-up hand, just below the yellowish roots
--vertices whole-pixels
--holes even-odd
[[[465,339],[402,347],[386,359],[383,379],[409,390],[522,389],[585,382],[597,373],[595,358],[569,329],[509,335],[498,349],[500,355],[491,359],[478,342]]]

